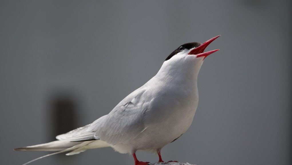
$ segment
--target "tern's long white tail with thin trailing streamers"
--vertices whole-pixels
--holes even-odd
[[[45,144],[38,144],[34,146],[27,146],[22,148],[15,148],[15,151],[57,151],[55,153],[51,153],[48,155],[44,155],[42,157],[38,157],[36,159],[33,159],[23,165],[29,164],[31,162],[34,162],[38,159],[59,154],[59,153],[65,153],[69,152],[66,155],[75,155],[79,154],[81,152],[86,151],[87,149],[92,148],[103,148],[103,147],[109,147],[111,145],[107,144],[105,141],[101,140],[91,140],[91,141],[65,141],[65,140],[57,140],[52,141]]]

